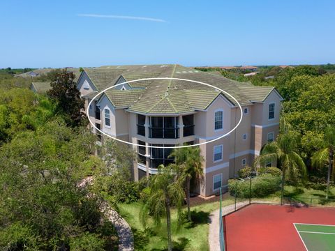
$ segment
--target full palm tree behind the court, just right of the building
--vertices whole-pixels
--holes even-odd
[[[281,132],[276,141],[266,144],[255,163],[265,166],[269,160],[276,161],[283,172],[281,182],[281,204],[283,204],[285,177],[297,181],[299,178],[306,179],[306,165],[304,160],[295,151],[297,149],[298,135],[290,129],[290,125],[281,121]]]

